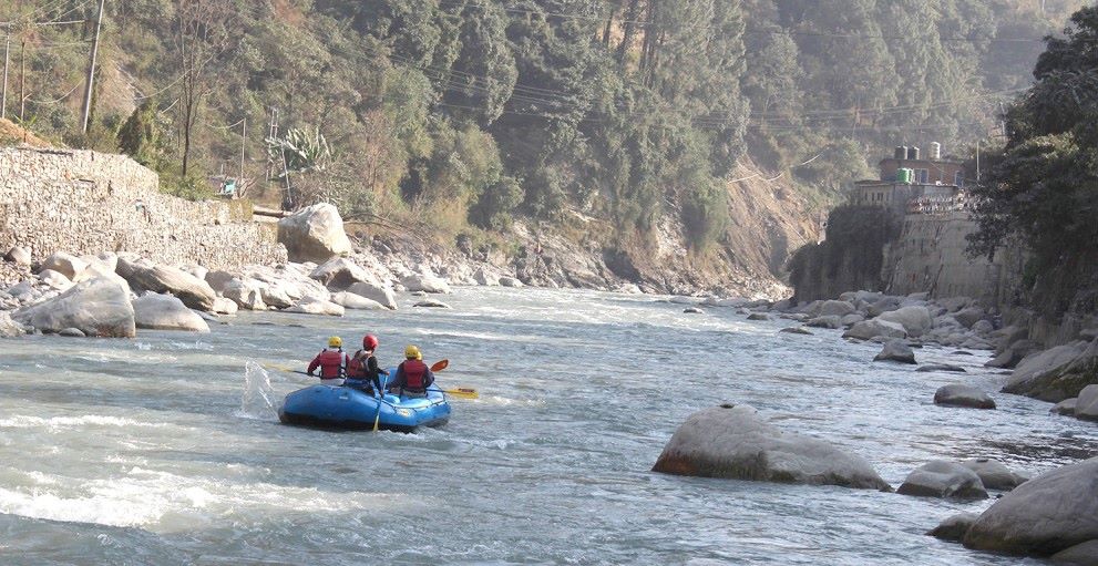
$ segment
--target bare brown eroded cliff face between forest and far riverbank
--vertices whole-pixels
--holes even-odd
[[[470,282],[484,267],[544,287],[788,297],[791,289],[782,281],[782,269],[793,250],[817,240],[818,223],[787,182],[768,182],[750,166],[736,172],[736,178],[743,177],[749,178],[728,185],[727,234],[700,254],[689,250],[677,210],[665,212],[653,234],[632,239],[616,236],[606,220],[566,212],[554,226],[515,222],[506,250],[430,241],[377,227],[359,235],[360,246],[376,255],[403,254],[403,265],[425,264],[459,284]]]

